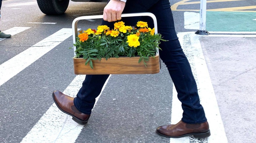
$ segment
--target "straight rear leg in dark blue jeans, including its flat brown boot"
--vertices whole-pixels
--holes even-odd
[[[178,40],[170,3],[168,0],[160,0],[148,10],[156,15],[159,33],[166,42],[161,42],[160,58],[165,63],[181,101],[183,117],[175,125],[161,126],[157,133],[166,137],[183,137],[194,135],[195,137],[210,136],[209,125],[204,110],[200,104],[197,85],[191,71],[190,64],[181,49]]]

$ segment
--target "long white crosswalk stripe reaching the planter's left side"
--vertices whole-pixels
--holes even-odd
[[[62,28],[53,35],[1,64],[0,86],[70,36],[72,36],[72,28]]]

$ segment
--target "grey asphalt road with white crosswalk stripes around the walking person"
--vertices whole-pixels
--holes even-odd
[[[158,74],[111,75],[88,124],[75,124],[69,116],[55,110],[51,94],[54,90],[60,90],[75,96],[84,76],[74,74],[74,53],[69,49],[73,46],[71,24],[79,16],[102,14],[106,3],[70,1],[65,14],[48,16],[40,11],[35,0],[4,0],[0,30],[9,30],[14,35],[10,39],[0,39],[0,68],[3,70],[0,71],[0,143],[253,142],[256,138],[253,130],[256,123],[256,65],[253,62],[256,52],[256,2],[246,0],[207,3],[207,9],[228,9],[210,11],[207,17],[211,20],[208,25],[206,23],[207,30],[222,33],[211,32],[212,36],[196,37],[203,57],[198,52],[200,49],[193,50],[191,40],[195,38],[193,32],[198,29],[184,28],[187,20],[184,20],[184,12],[199,14],[195,10],[200,9],[200,4],[198,1],[185,1],[194,2],[186,4],[184,1],[178,2],[179,0],[171,2],[171,5],[178,5],[173,9],[175,27],[177,33],[182,35],[179,38],[197,79],[202,104],[207,118],[209,117],[210,128],[212,127],[212,138],[199,140],[190,136],[184,139],[186,141],[170,140],[155,133],[158,126],[173,123],[175,118],[180,119],[173,117],[176,115],[174,110],[178,102],[174,98],[174,86],[163,63]],[[230,11],[233,12],[231,19],[234,21],[212,23],[220,19],[217,17],[220,12],[230,17]],[[244,23],[236,21],[236,15],[241,11],[247,12],[248,17],[244,14]],[[85,20],[79,22],[78,28],[96,28],[100,23],[101,20]],[[217,24],[234,27],[214,27]],[[232,33],[228,28],[240,33]],[[56,33],[57,36],[54,35]],[[52,38],[51,35],[58,38]],[[203,65],[194,60],[196,55],[205,61],[206,71],[209,72],[207,82],[210,85],[205,88],[201,79],[206,78],[201,77],[202,74],[198,74],[199,71],[195,68]],[[214,90],[212,97],[216,100],[214,109],[207,106],[207,103],[213,103],[207,101],[210,97],[202,94],[203,89],[209,91],[210,87]],[[218,118],[212,117],[215,112]],[[214,127],[214,121],[220,121],[220,124]],[[218,127],[223,128],[221,135],[217,133]]]

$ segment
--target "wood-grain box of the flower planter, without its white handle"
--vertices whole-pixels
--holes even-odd
[[[73,58],[75,74],[154,74],[160,72],[159,55],[149,57],[147,67],[143,61],[138,63],[139,57],[119,57],[99,60],[93,60],[92,69],[85,65],[83,58]]]

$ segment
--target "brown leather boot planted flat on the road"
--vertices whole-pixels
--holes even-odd
[[[211,135],[207,121],[198,124],[187,124],[180,121],[175,125],[160,126],[156,132],[159,135],[171,138],[179,138],[187,135],[194,135],[196,138],[205,138]]]

